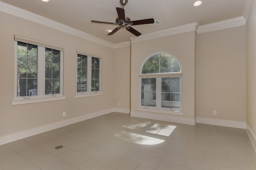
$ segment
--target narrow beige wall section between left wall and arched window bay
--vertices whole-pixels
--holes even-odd
[[[130,47],[115,49],[115,111],[130,112]],[[120,106],[118,106],[120,103]]]

